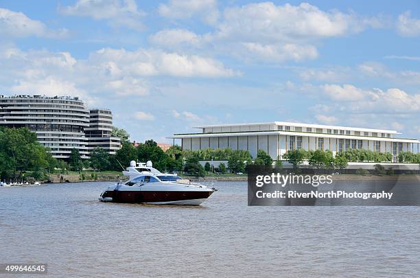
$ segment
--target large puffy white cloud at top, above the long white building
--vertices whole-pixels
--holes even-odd
[[[368,26],[378,27],[373,20],[338,11],[324,12],[309,3],[296,6],[250,3],[227,8],[223,18],[217,36],[265,42],[343,36],[361,32]]]

